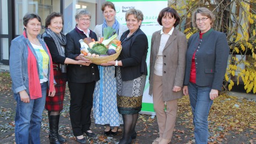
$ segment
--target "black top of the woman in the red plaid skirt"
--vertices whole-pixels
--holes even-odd
[[[46,32],[42,34],[42,37],[44,42],[46,42],[48,49],[50,50],[52,62],[58,63],[58,64],[64,64],[66,57],[59,55],[59,51],[54,42],[54,39],[52,39],[52,37]]]

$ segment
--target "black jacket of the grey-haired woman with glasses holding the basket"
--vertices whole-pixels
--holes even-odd
[[[66,34],[65,55],[68,58],[75,59],[80,55],[80,39],[85,39],[87,36],[84,33],[78,32],[74,28],[71,32]],[[89,37],[97,41],[96,34],[90,30]],[[89,66],[69,64],[67,65],[67,81],[86,83],[98,81],[100,79],[98,66],[90,64]]]

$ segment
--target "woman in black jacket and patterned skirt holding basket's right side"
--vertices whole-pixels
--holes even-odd
[[[135,126],[141,110],[142,95],[147,75],[147,36],[141,31],[143,14],[130,9],[125,13],[128,31],[121,36],[122,51],[119,60],[110,61],[103,66],[117,66],[117,109],[124,120],[123,138],[119,144],[129,144],[137,134]]]

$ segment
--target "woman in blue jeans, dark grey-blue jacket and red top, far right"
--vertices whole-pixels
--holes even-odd
[[[229,46],[224,33],[214,31],[214,14],[198,8],[192,24],[200,30],[189,39],[183,93],[189,94],[193,112],[195,143],[207,143],[208,115],[227,68]]]

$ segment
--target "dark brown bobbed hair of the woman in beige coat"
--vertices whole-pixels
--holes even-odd
[[[174,27],[176,27],[179,24],[180,17],[179,17],[178,12],[172,7],[165,7],[164,9],[162,9],[157,18],[157,22],[162,26],[163,25],[162,18],[164,16],[167,16],[168,14],[171,14],[171,17],[176,19],[175,24],[174,24]]]

